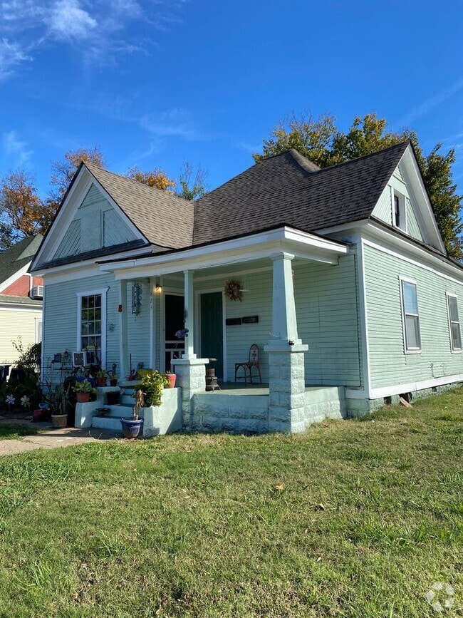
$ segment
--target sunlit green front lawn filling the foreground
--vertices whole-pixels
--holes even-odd
[[[0,458],[0,616],[462,615],[462,404]]]

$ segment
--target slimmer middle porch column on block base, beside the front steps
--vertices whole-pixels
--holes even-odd
[[[184,327],[188,329],[185,336],[185,353],[181,359],[173,359],[177,375],[177,385],[182,388],[182,416],[185,429],[192,430],[194,419],[194,395],[206,391],[206,364],[209,359],[197,359],[194,353],[194,271],[184,271]],[[199,423],[198,423],[199,424]]]

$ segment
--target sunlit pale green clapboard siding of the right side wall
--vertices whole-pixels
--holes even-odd
[[[420,354],[404,351],[399,277],[417,282]],[[446,297],[457,294],[462,316],[462,284],[365,246],[365,286],[373,388],[463,373],[463,355],[452,354],[450,346]]]

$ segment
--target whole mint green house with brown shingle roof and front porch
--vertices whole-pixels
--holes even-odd
[[[463,270],[410,143],[323,170],[289,150],[194,203],[82,164],[31,272],[44,359],[173,357],[188,428],[302,431],[463,381]],[[209,358],[227,389],[254,343],[268,391],[203,393]]]

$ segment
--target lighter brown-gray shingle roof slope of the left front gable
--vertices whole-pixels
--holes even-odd
[[[192,244],[192,202],[96,165],[84,165],[152,244],[172,249]]]

